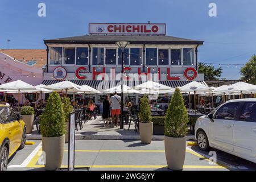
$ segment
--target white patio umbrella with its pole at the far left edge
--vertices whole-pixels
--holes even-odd
[[[6,89],[6,90],[18,90],[18,111],[19,111],[19,93],[20,90],[36,90],[35,86],[27,84],[24,81],[16,80],[9,82],[7,84],[0,85],[0,89]]]

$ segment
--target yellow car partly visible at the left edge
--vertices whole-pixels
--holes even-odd
[[[26,125],[10,107],[0,105],[0,171],[6,171],[8,159],[24,148]]]

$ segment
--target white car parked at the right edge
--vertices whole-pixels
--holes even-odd
[[[196,121],[195,137],[210,147],[256,163],[256,98],[227,101]]]

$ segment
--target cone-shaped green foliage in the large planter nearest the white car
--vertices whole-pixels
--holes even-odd
[[[164,123],[164,135],[167,137],[185,137],[187,135],[188,112],[185,108],[180,89],[176,88],[168,107]]]

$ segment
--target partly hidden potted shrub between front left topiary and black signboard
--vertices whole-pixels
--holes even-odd
[[[65,129],[66,129],[66,136],[65,136],[65,143],[68,143],[68,122],[69,122],[69,113],[73,111],[73,107],[71,105],[71,101],[69,97],[62,98],[62,105],[63,111],[65,115]]]

